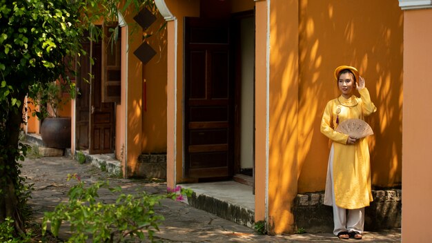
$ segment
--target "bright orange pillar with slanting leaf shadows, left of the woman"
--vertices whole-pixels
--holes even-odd
[[[294,230],[297,195],[298,1],[273,0],[270,8],[268,230],[279,234]]]

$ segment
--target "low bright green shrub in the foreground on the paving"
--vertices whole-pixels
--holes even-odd
[[[153,242],[153,235],[164,220],[162,215],[155,213],[154,206],[167,197],[182,199],[184,195],[192,195],[190,189],[179,187],[166,195],[149,195],[146,192],[126,195],[121,193],[120,187],[110,188],[108,182],[96,182],[86,187],[76,174],[69,175],[70,179],[76,179],[78,183],[70,188],[68,202],[58,204],[55,211],[46,212],[42,222],[43,233],[46,233],[50,223],[50,231],[55,236],[59,235],[63,221],[70,222],[73,233],[68,242],[86,242],[88,239],[92,242],[124,242],[125,237],[148,238]],[[119,193],[116,202],[98,202],[99,188]]]

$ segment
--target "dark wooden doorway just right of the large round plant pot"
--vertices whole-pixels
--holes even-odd
[[[114,103],[101,99],[101,43],[85,41],[82,44],[88,55],[78,60],[75,143],[77,150],[88,150],[89,154],[113,153],[115,109]]]

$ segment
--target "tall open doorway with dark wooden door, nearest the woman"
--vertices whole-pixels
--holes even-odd
[[[184,23],[184,175],[252,185],[254,12]]]

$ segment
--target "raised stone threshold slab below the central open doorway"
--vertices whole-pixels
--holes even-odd
[[[255,195],[252,186],[235,181],[179,184],[193,190],[186,203],[226,220],[253,228]]]

